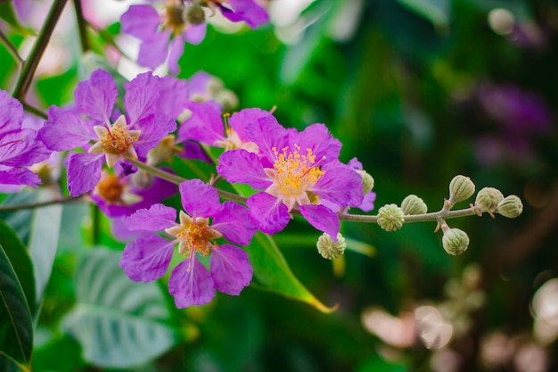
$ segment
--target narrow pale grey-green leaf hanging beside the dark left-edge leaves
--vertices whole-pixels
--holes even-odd
[[[38,201],[53,200],[56,194],[48,188],[38,190]],[[40,302],[45,286],[51,276],[56,248],[60,236],[62,204],[37,208],[31,217],[29,252],[34,263],[37,281],[37,303]]]

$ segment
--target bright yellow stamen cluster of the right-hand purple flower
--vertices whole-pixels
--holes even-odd
[[[307,148],[306,154],[300,153],[300,146],[295,145],[294,151],[289,151],[289,146],[282,149],[272,148],[277,160],[274,162],[275,181],[279,190],[286,196],[297,196],[307,191],[316,184],[324,175],[324,170],[318,168],[316,155],[312,149]]]

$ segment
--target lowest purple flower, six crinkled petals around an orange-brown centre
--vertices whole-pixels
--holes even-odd
[[[183,182],[179,186],[184,211],[163,204],[136,211],[127,218],[130,230],[156,233],[142,236],[127,244],[120,267],[128,277],[138,282],[150,282],[165,275],[174,247],[185,256],[171,272],[168,292],[175,297],[176,307],[208,303],[216,290],[238,295],[250,284],[252,267],[248,254],[231,244],[217,244],[226,240],[240,245],[250,244],[256,228],[250,224],[248,211],[233,202],[219,203],[217,189],[199,179]],[[212,219],[209,223],[209,219]],[[209,271],[198,254],[209,260]]]

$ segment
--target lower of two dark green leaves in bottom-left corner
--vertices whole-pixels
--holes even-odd
[[[33,320],[20,281],[0,244],[0,352],[21,366],[29,365]]]

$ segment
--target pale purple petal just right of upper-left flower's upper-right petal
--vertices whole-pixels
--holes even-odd
[[[165,76],[159,80],[157,112],[175,119],[184,112],[188,103],[188,83],[184,79]]]

